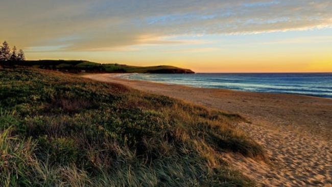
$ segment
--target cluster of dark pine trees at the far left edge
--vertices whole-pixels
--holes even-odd
[[[0,46],[0,61],[25,61],[26,57],[23,50],[17,51],[16,46],[10,49],[7,41]]]

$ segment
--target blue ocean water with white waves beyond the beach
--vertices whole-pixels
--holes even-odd
[[[119,77],[203,88],[332,98],[332,73],[122,74]]]

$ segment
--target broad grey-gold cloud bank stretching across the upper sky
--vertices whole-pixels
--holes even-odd
[[[330,0],[2,0],[0,39],[32,49],[111,50],[182,43],[163,39],[177,35],[331,27],[331,10]]]

